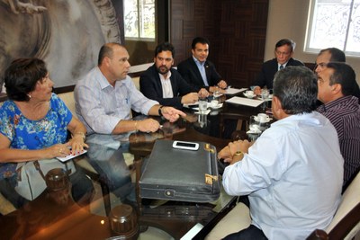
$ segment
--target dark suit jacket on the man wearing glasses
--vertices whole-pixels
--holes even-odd
[[[288,66],[304,66],[301,61],[290,58],[286,64]],[[274,76],[278,70],[277,60],[273,58],[271,60],[266,61],[261,67],[261,72],[257,76],[257,80],[253,83],[253,85],[258,85],[263,88],[265,85],[267,89],[273,89]]]

